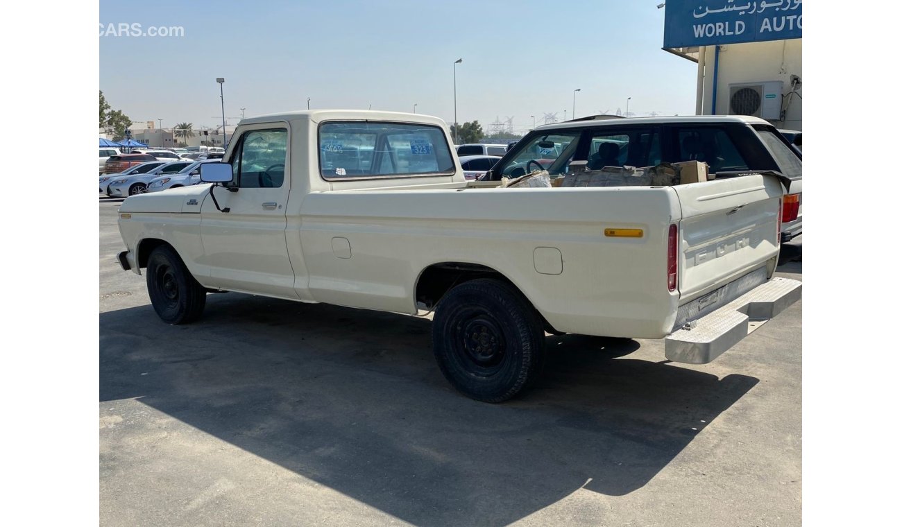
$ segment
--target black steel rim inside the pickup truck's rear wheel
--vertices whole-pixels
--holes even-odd
[[[461,318],[455,342],[463,366],[480,377],[497,373],[502,368],[506,348],[501,325],[483,312],[467,313]]]

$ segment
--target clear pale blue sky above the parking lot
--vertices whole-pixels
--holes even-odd
[[[182,37],[100,37],[100,89],[135,123],[221,123],[311,108],[474,119],[694,114],[695,63],[661,50],[658,0],[331,0],[100,3],[107,24],[180,26]],[[229,124],[237,123],[230,119]]]

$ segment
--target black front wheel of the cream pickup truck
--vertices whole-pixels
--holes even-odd
[[[198,320],[207,304],[207,291],[191,276],[175,250],[168,245],[154,249],[147,259],[146,272],[147,293],[163,322]]]

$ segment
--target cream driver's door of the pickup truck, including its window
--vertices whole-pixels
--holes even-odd
[[[229,159],[233,179],[201,206],[200,237],[210,283],[222,289],[296,299],[285,242],[290,190],[287,123],[244,129]]]

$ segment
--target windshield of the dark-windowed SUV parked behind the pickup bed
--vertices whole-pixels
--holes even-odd
[[[512,159],[495,168],[503,177],[520,177],[535,170],[548,170],[548,174],[564,174],[576,151],[580,131],[555,132],[536,135],[518,145]]]

